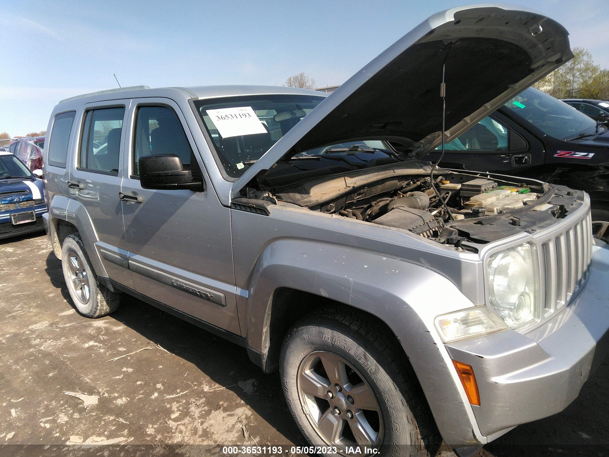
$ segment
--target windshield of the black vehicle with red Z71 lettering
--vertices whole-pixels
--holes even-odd
[[[530,122],[546,135],[559,140],[572,140],[580,135],[594,135],[597,132],[596,121],[533,87],[518,94],[504,106],[517,118]]]

